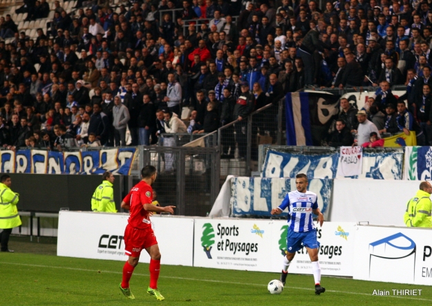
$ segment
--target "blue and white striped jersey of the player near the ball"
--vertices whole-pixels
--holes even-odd
[[[318,208],[316,194],[311,191],[299,193],[291,191],[285,195],[279,208],[283,211],[288,208],[288,226],[294,232],[309,232],[315,229],[312,220],[312,210]]]

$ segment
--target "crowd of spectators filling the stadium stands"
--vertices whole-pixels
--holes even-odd
[[[418,144],[432,145],[428,2],[118,4],[78,0],[68,14],[55,1],[54,18],[34,38],[10,14],[0,18],[1,38],[13,38],[0,41],[1,146],[120,146],[127,130],[131,145],[149,145],[161,133],[208,133],[239,120],[244,155],[243,119],[254,109],[304,87],[369,85],[378,89],[364,109],[341,101],[329,144],[352,144],[352,133],[361,145],[374,131],[416,131]],[[159,20],[160,10],[175,8],[174,19],[168,12]],[[25,0],[17,13],[46,18],[50,6]],[[407,93],[393,96],[393,85]],[[405,99],[408,107],[398,103]],[[275,129],[271,109],[259,133]]]

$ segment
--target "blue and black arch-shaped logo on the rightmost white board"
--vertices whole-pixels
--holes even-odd
[[[395,274],[395,278],[400,278],[399,270],[394,267],[404,267],[405,271],[412,271],[414,277],[415,250],[413,239],[402,232],[369,243],[369,277],[380,278],[379,274]]]

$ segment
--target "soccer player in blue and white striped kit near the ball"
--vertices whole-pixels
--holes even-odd
[[[287,253],[283,257],[283,268],[281,282],[285,285],[288,275],[288,267],[294,259],[297,251],[303,246],[312,261],[312,273],[315,281],[315,294],[325,292],[321,287],[321,267],[318,262],[319,242],[316,239],[316,228],[312,220],[312,213],[318,215],[318,222],[323,226],[324,217],[318,208],[316,194],[307,191],[307,176],[303,173],[296,175],[296,191],[291,191],[285,195],[281,205],[273,208],[272,215],[279,215],[285,208],[288,208],[288,234],[287,234]]]

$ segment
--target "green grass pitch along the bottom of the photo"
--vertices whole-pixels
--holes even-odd
[[[279,274],[163,265],[163,254],[158,285],[166,300],[146,293],[149,266],[143,263],[131,278],[136,300],[128,300],[118,289],[122,266],[120,261],[0,253],[0,305],[432,305],[428,286],[324,276],[327,291],[316,296],[313,276],[296,274],[288,276],[282,294],[271,295],[267,284]],[[373,296],[374,289],[422,289],[422,295]]]

